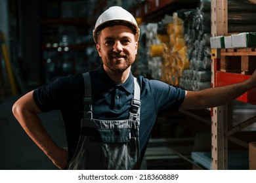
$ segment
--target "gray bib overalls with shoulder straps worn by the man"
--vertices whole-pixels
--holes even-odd
[[[93,119],[93,98],[89,73],[85,80],[84,116],[74,158],[67,169],[140,169],[140,87],[135,91],[127,120]]]

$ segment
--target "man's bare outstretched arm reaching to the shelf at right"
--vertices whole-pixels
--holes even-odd
[[[224,105],[255,87],[256,70],[244,82],[216,88],[207,88],[197,92],[187,91],[180,109],[203,109]]]

